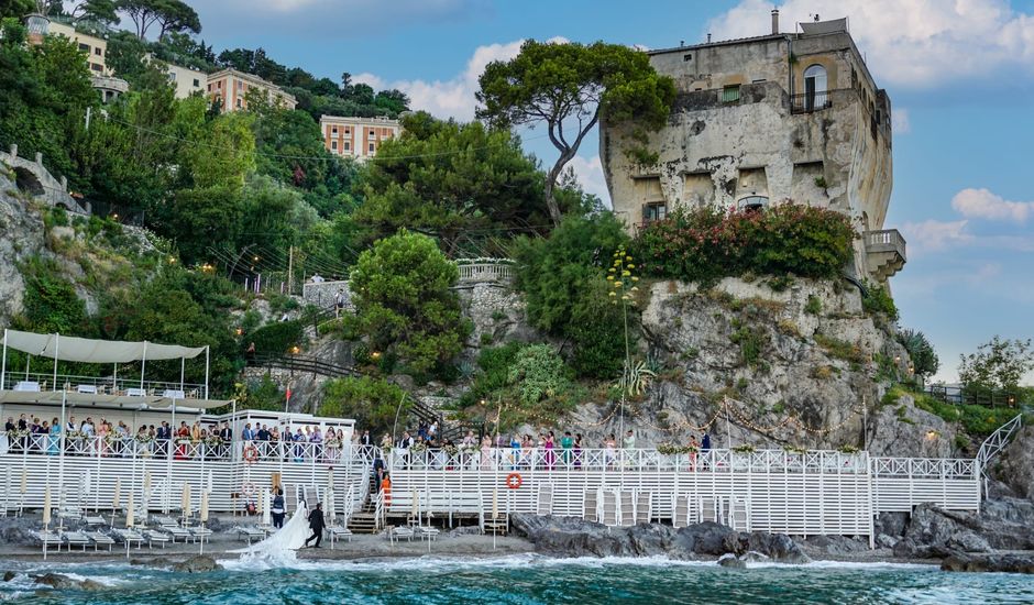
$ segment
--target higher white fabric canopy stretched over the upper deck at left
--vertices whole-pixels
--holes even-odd
[[[4,343],[15,351],[30,355],[51,358],[61,361],[86,363],[129,363],[133,361],[156,361],[194,359],[205,352],[204,346],[190,348],[176,344],[155,344],[153,342],[122,342],[94,340],[61,334],[35,334],[18,330],[7,330]]]

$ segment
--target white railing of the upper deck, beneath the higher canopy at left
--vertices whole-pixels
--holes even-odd
[[[25,393],[78,393],[85,395],[114,395],[129,397],[175,397],[197,399],[205,394],[205,385],[163,381],[143,381],[132,376],[78,376],[35,372],[8,372],[0,382],[0,391]]]

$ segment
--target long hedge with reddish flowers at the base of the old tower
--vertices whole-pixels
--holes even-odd
[[[854,238],[848,219],[824,208],[698,208],[651,222],[636,240],[634,255],[647,275],[688,282],[748,272],[829,278],[850,261]]]

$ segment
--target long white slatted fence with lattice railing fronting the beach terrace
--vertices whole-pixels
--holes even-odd
[[[389,516],[409,515],[416,505],[437,517],[483,519],[495,501],[503,514],[548,513],[618,525],[718,519],[737,529],[871,536],[880,512],[909,512],[924,502],[961,510],[980,504],[974,460],[866,452],[532,448],[382,454],[376,448],[308,442],[81,441],[69,440],[61,452],[48,436],[0,436],[7,507],[41,507],[47,485],[55,506],[111,510],[124,507],[130,492],[140,506],[147,477],[151,510],[180,512],[189,484],[193,509],[208,490],[212,512],[239,513],[273,485],[275,475],[284,485],[321,494],[333,469],[334,512],[348,516],[364,501],[373,461],[382,455],[392,474]]]

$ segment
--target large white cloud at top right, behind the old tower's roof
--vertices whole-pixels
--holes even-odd
[[[756,36],[771,28],[772,3],[741,0],[713,19],[715,40]],[[1034,15],[1009,0],[785,0],[783,31],[798,22],[848,18],[859,50],[878,81],[925,87],[1034,65]]]

